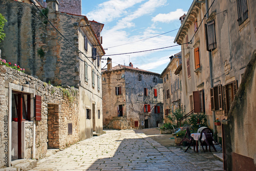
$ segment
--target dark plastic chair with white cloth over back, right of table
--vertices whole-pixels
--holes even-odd
[[[206,139],[202,141],[203,134],[205,135]],[[212,133],[211,129],[209,129],[209,128],[205,128],[205,129],[202,130],[199,141],[201,143],[203,151],[204,151],[204,145],[206,147],[206,151],[207,151],[207,145],[209,145],[209,151],[210,151],[210,146],[212,146],[212,148],[214,148],[214,151],[217,152],[217,150],[214,146],[214,143],[213,143],[213,141],[214,141],[214,139],[212,138],[213,135],[214,134]],[[205,151],[204,151],[204,153],[205,153]]]

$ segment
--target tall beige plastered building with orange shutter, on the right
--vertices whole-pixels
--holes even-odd
[[[223,142],[225,142],[225,136],[234,136],[234,132],[231,131],[232,134],[223,137],[221,126],[215,126],[214,120],[227,119],[231,115],[230,109],[234,108],[234,97],[244,80],[243,75],[247,65],[254,55],[256,49],[255,5],[256,2],[252,0],[233,2],[195,0],[175,38],[175,42],[181,45],[182,49],[182,92],[186,113],[190,108],[192,109],[192,105],[195,113],[205,112],[208,126],[214,129],[222,140],[224,139]],[[243,108],[246,109],[245,106]],[[244,116],[247,115],[244,114]],[[247,136],[255,134],[247,134],[246,131],[244,133]],[[231,141],[231,143],[234,142]],[[236,146],[223,145],[224,148],[225,145],[227,145],[226,148],[230,145],[232,148]],[[234,149],[232,154],[241,158],[242,161],[236,164],[247,165],[248,161],[252,162],[252,160],[247,161],[243,155],[254,158],[255,161],[255,150],[250,154],[244,154],[240,153],[243,148],[237,147],[238,149]],[[250,151],[250,149],[247,150]],[[224,156],[231,157],[232,154],[224,151]],[[250,164],[253,165],[253,163]],[[227,160],[224,160],[225,165]]]

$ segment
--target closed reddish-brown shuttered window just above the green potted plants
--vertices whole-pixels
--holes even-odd
[[[193,92],[194,112],[204,112],[204,90]]]

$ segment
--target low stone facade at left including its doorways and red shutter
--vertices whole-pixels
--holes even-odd
[[[53,87],[0,65],[0,92],[0,167],[79,140],[78,89]]]

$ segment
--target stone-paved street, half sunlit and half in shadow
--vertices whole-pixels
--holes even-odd
[[[223,170],[212,154],[166,148],[140,131],[106,131],[48,158],[33,170]]]

